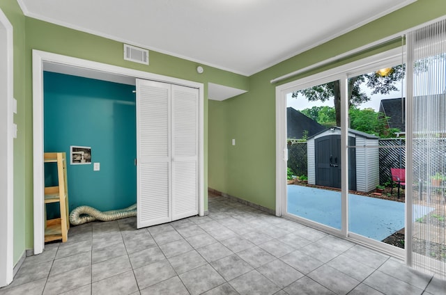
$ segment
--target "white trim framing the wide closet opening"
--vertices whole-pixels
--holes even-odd
[[[34,186],[34,254],[44,248],[44,175],[43,175],[43,64],[59,63],[72,67],[117,74],[125,77],[173,83],[199,89],[199,215],[204,214],[204,86],[203,83],[162,76],[126,67],[108,65],[81,58],[52,54],[33,49],[33,186]]]

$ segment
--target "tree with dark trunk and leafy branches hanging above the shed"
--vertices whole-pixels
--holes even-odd
[[[404,74],[404,66],[397,65],[395,67],[392,67],[390,72],[388,72],[387,74],[378,74],[378,72],[372,72],[348,79],[347,95],[349,109],[352,106],[359,106],[360,104],[368,102],[371,99],[371,97],[361,91],[360,86],[363,83],[365,83],[367,87],[373,89],[371,95],[378,93],[384,95],[390,93],[390,91],[398,90],[396,86],[397,81],[401,81],[401,79],[403,79],[404,77]],[[318,100],[321,100],[321,102],[325,102],[326,100],[330,99],[330,97],[333,97],[334,113],[336,119],[335,122],[337,126],[341,126],[341,90],[339,80],[295,91],[292,94],[292,97],[298,97],[298,95],[303,95],[310,102],[315,102]]]

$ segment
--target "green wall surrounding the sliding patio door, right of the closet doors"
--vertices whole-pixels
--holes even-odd
[[[248,93],[224,102],[210,102],[209,147],[213,148],[209,149],[209,187],[275,209],[275,87],[340,63],[274,85],[270,80],[443,15],[446,15],[446,1],[418,0],[252,75]],[[229,138],[236,138],[236,146],[231,145]],[[219,147],[214,149],[216,145]]]

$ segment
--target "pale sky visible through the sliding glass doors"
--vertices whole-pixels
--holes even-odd
[[[399,84],[399,85],[398,85]],[[391,93],[387,95],[370,95],[371,89],[367,88],[367,86],[364,86],[364,84],[361,86],[362,91],[364,93],[367,93],[367,95],[371,96],[371,99],[369,102],[366,102],[364,104],[361,104],[359,106],[360,109],[367,109],[371,108],[375,111],[379,111],[380,101],[381,99],[390,99],[390,98],[399,98],[404,97],[406,91],[405,91],[405,80],[403,80],[403,92],[401,92],[401,81],[398,82],[397,88],[399,88],[400,91],[392,91]],[[401,95],[402,93],[402,95]],[[291,97],[291,93],[286,95],[286,106],[291,106],[293,109],[296,109],[298,111],[301,111],[302,109],[311,109],[313,106],[334,106],[333,99],[329,99],[325,102],[317,101],[317,102],[309,102],[308,99],[306,99],[303,96],[293,98]]]

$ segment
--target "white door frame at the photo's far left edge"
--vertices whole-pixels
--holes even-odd
[[[13,26],[0,9],[0,287],[13,281]]]

